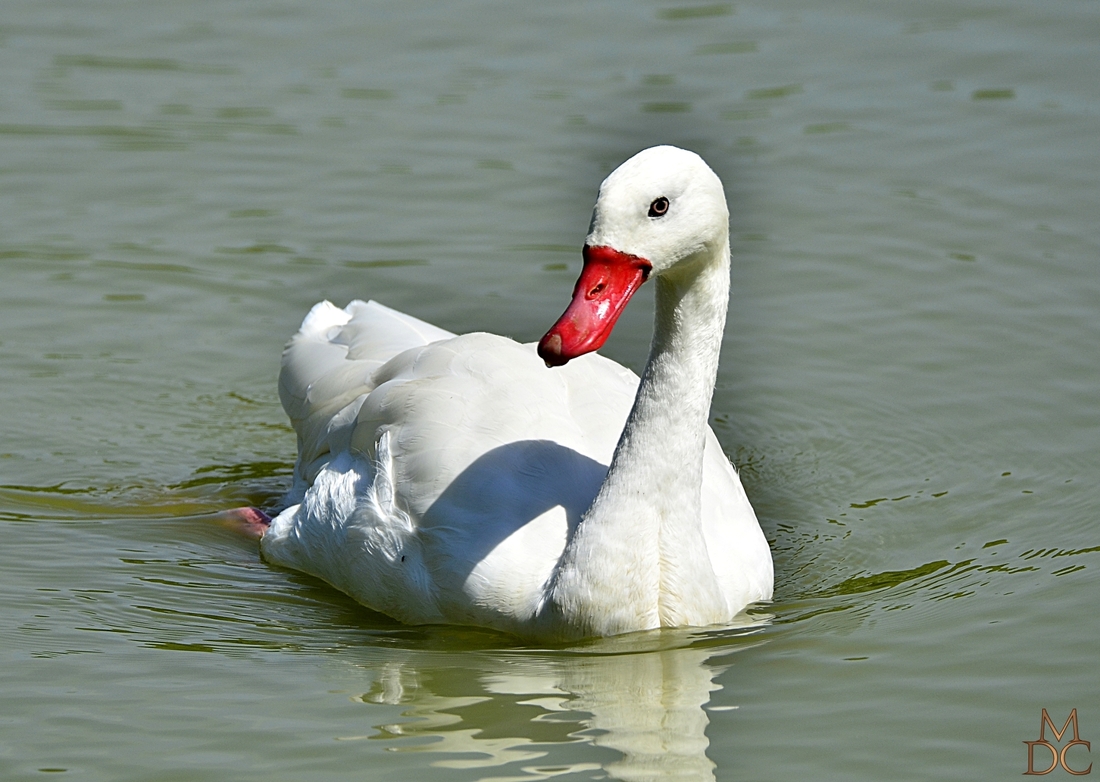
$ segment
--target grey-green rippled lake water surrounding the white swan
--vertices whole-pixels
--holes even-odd
[[[1096,0],[4,2],[0,778],[1001,780],[1044,708],[1100,742],[1098,42]],[[755,624],[407,628],[212,522],[288,485],[315,301],[537,339],[656,143],[729,196]],[[651,295],[603,351],[636,370]]]

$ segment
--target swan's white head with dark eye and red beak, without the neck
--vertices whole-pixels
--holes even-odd
[[[642,150],[600,186],[573,300],[539,356],[560,366],[597,350],[642,283],[719,257],[728,238],[722,180],[703,158],[675,146]]]

